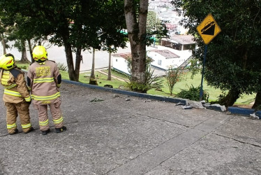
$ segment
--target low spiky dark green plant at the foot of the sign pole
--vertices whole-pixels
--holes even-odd
[[[186,86],[188,87],[188,85]],[[200,85],[198,87],[194,87],[193,85],[191,85],[191,87],[188,87],[188,90],[181,90],[181,92],[177,94],[177,97],[198,101],[200,99]],[[202,99],[205,100],[205,102],[209,102],[209,92],[203,90]]]

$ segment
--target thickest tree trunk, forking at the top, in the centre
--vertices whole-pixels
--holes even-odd
[[[145,83],[146,71],[146,23],[148,13],[148,0],[140,0],[140,9],[138,22],[136,18],[135,3],[133,0],[124,1],[124,11],[126,26],[128,29],[128,38],[130,41],[130,50],[132,56],[131,62],[131,80],[136,83]]]

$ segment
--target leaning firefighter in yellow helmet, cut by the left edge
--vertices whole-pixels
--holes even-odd
[[[24,79],[24,72],[15,65],[15,57],[8,53],[0,57],[0,82],[5,87],[3,102],[6,106],[8,134],[17,134],[16,119],[19,114],[24,133],[33,130],[29,116],[31,97]]]

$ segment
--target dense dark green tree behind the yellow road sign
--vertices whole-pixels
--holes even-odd
[[[205,78],[209,85],[229,90],[223,99],[231,106],[242,93],[261,90],[261,2],[259,0],[174,0],[179,13],[184,13],[181,25],[195,36],[199,49],[194,55],[203,61],[204,43],[197,25],[211,13],[219,33],[208,45]],[[182,9],[182,10],[181,10]]]

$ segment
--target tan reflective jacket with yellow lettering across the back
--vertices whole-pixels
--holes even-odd
[[[54,104],[59,102],[61,74],[53,61],[33,62],[27,73],[27,86],[31,90],[33,104]]]

